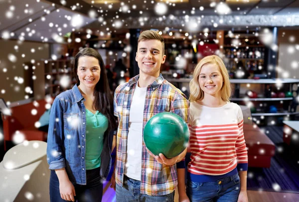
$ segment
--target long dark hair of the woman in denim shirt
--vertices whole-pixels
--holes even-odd
[[[109,83],[106,75],[106,69],[102,56],[93,48],[83,48],[75,56],[73,73],[76,77],[78,85],[80,85],[80,80],[77,75],[78,61],[80,57],[89,56],[98,59],[101,73],[100,80],[96,84],[94,90],[95,100],[93,101],[92,108],[98,110],[102,114],[106,115],[109,121],[108,128],[114,129],[116,127],[116,117],[113,114],[113,96],[109,88]]]

